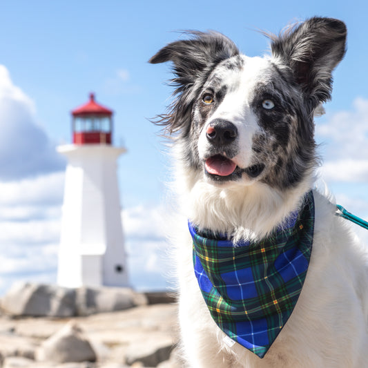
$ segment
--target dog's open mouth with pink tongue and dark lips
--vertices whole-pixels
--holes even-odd
[[[246,173],[249,177],[255,178],[264,170],[264,164],[255,164],[247,168],[240,168],[235,162],[223,155],[214,155],[204,162],[206,173],[215,177],[216,180],[232,179],[241,177]]]

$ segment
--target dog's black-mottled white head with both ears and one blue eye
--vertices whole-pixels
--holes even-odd
[[[342,21],[312,18],[271,36],[271,57],[246,57],[217,32],[192,32],[150,60],[173,61],[177,98],[160,123],[186,166],[220,186],[291,188],[316,165],[313,114],[331,97],[345,54]]]

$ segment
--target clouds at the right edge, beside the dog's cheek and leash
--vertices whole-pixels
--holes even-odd
[[[318,142],[325,142],[321,177],[334,188],[336,202],[368,220],[368,100],[356,98],[351,110],[339,111],[316,122]],[[363,244],[368,231],[351,223]]]

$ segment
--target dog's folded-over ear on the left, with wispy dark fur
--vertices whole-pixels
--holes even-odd
[[[175,94],[178,98],[171,104],[166,115],[159,115],[156,124],[166,126],[171,134],[183,126],[190,126],[191,108],[195,96],[202,88],[211,71],[217,64],[229,57],[239,55],[235,44],[218,32],[188,32],[191,39],[184,39],[169,43],[151,57],[151,64],[173,62],[176,86]]]

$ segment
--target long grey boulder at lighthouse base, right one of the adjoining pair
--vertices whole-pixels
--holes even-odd
[[[77,289],[77,315],[122,311],[147,304],[144,295],[128,288],[81,287]]]

